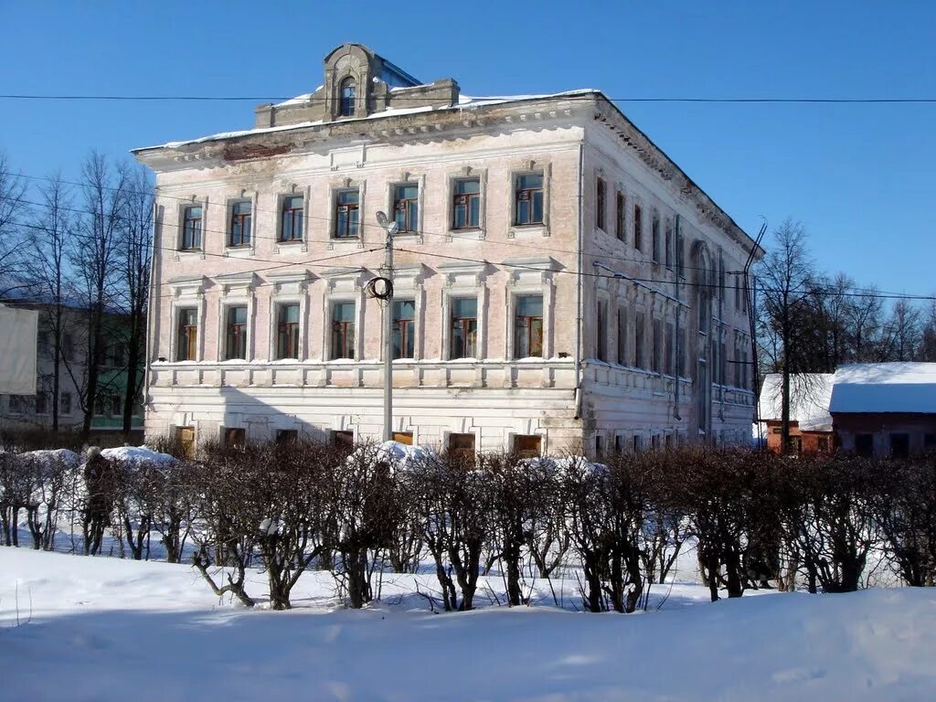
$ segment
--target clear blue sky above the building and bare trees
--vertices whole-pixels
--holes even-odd
[[[367,3],[364,4],[365,6]],[[782,6],[782,7],[781,7]],[[929,2],[0,2],[0,93],[308,92],[359,41],[466,95],[934,97]],[[752,234],[801,220],[812,254],[883,290],[936,293],[936,104],[619,103]],[[0,148],[74,175],[95,148],[253,124],[253,103],[0,101]]]

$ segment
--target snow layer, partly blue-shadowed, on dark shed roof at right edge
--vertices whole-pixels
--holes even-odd
[[[831,412],[936,414],[936,363],[855,363],[834,382]]]

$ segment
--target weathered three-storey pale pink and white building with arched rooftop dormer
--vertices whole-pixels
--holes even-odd
[[[157,176],[146,431],[458,449],[750,441],[754,242],[597,91],[471,98],[358,44]]]

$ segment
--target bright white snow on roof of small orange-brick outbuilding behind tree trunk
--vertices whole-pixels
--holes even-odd
[[[831,431],[828,403],[832,396],[832,373],[795,373],[790,376],[790,419],[805,431]],[[781,373],[764,377],[758,402],[761,421],[780,420],[782,414]]]

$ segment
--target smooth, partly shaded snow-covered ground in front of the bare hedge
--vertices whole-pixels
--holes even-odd
[[[431,587],[388,576],[382,601],[353,611],[308,573],[298,608],[272,612],[219,602],[186,565],[0,548],[0,699],[936,698],[936,590],[711,604],[676,585],[636,615],[551,596],[508,609],[479,592],[481,609],[433,615],[417,580]]]

